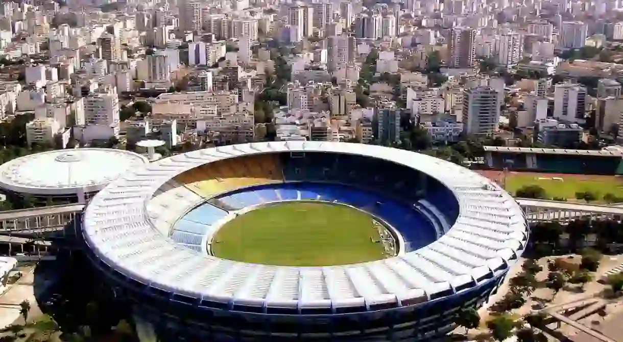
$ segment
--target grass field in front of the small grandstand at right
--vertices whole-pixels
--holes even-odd
[[[563,178],[563,181],[553,180],[553,177]],[[549,198],[562,197],[573,200],[576,198],[576,192],[585,191],[596,193],[598,201],[603,201],[606,193],[623,196],[623,178],[621,177],[533,172],[509,173],[506,176],[506,191],[513,195],[518,188],[531,184],[544,188]]]

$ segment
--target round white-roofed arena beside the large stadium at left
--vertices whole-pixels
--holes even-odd
[[[0,165],[0,190],[9,197],[83,202],[120,175],[147,163],[143,155],[117,149],[41,152]]]

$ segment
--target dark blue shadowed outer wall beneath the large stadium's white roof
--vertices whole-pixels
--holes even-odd
[[[508,194],[506,194],[508,195]],[[516,203],[515,203],[516,204]],[[525,220],[525,218],[523,218]],[[526,231],[527,235],[527,231]],[[527,236],[526,236],[527,239]],[[103,261],[95,254],[93,246],[85,251],[93,265],[117,293],[135,302],[135,311],[151,323],[163,341],[204,340],[335,340],[335,341],[426,341],[444,335],[454,328],[453,314],[460,308],[481,307],[503,281],[508,263],[492,269],[492,277],[472,284],[433,293],[428,300],[402,302],[400,306],[375,306],[378,310],[331,313],[298,314],[242,312],[223,307],[207,307],[179,300],[170,292],[159,290],[151,284],[134,280],[117,267]],[[523,244],[522,244],[523,246]],[[520,255],[523,247],[517,249]],[[516,258],[515,258],[516,261]],[[334,309],[334,308],[331,308]]]

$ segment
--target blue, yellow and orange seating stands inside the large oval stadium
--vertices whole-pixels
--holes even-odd
[[[436,180],[402,165],[358,155],[226,159],[184,172],[174,184],[194,196],[192,203],[208,200],[171,231],[174,241],[196,250],[201,249],[200,238],[228,211],[273,201],[322,200],[368,211],[401,233],[407,251],[439,238],[459,214],[452,192]],[[166,211],[160,215],[166,216]],[[173,220],[166,218],[162,226],[170,226]]]

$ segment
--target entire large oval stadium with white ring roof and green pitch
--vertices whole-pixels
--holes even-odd
[[[158,160],[83,215],[93,264],[163,340],[430,340],[521,256],[513,198],[427,155],[265,142]]]

